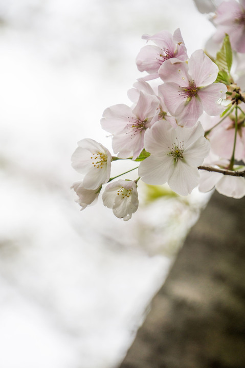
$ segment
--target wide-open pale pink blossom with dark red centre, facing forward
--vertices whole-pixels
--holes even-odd
[[[159,74],[165,82],[159,89],[168,111],[179,125],[193,126],[203,111],[210,116],[224,111],[219,101],[226,98],[227,87],[223,83],[213,83],[218,66],[203,50],[196,50],[188,64],[177,59],[167,60]]]

